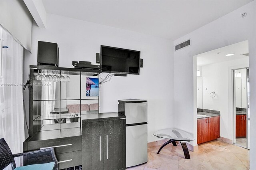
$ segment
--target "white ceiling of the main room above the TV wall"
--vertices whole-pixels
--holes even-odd
[[[51,14],[176,40],[249,2],[251,0],[44,0],[43,4]]]

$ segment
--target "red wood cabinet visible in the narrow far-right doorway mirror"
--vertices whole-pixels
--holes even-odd
[[[236,138],[246,137],[247,119],[246,115],[236,115]]]

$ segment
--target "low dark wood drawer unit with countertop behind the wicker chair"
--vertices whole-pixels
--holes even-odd
[[[80,128],[68,128],[36,132],[23,142],[23,150],[31,151],[40,148],[53,147],[58,169],[82,165],[82,130]],[[24,165],[52,162],[50,152],[36,153],[24,156]]]

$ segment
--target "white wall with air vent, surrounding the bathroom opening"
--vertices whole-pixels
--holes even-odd
[[[256,113],[256,4],[255,1],[174,41],[192,38],[192,45],[174,52],[174,125],[194,133],[196,146],[196,57],[194,55],[249,40],[250,111]],[[245,18],[241,14],[247,12]],[[250,169],[256,169],[256,114],[250,115]]]

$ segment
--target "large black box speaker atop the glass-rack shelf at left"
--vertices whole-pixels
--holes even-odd
[[[59,65],[59,47],[57,43],[40,42],[37,46],[37,65]]]

